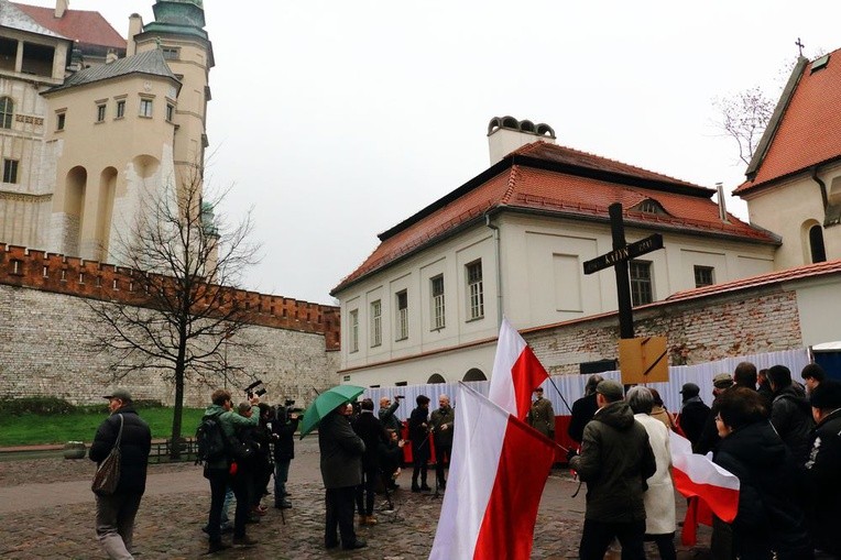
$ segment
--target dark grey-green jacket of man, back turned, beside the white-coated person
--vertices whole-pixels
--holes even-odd
[[[626,403],[611,403],[596,413],[585,427],[581,454],[569,465],[587,483],[587,519],[645,519],[644,484],[657,463],[648,433]]]

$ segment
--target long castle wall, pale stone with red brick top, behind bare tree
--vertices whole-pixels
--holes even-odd
[[[101,402],[103,389],[114,383],[108,356],[89,348],[102,326],[86,298],[131,301],[130,282],[130,271],[111,265],[0,245],[0,396]],[[314,387],[321,391],[338,383],[338,308],[256,293],[240,295],[253,314],[251,325],[238,331],[225,350],[234,397],[242,396],[240,388],[251,380],[262,378],[270,403],[294,398],[308,404]],[[238,341],[250,348],[240,348]],[[135,398],[172,404],[174,397],[173,384],[156,372],[133,374],[119,385]],[[185,403],[207,404],[218,385],[223,385],[221,376],[209,384],[188,380]]]

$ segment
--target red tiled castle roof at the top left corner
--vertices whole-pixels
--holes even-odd
[[[39,25],[67,39],[86,45],[125,50],[125,40],[117,33],[99,12],[67,10],[62,18],[56,18],[55,8],[13,3],[22,12],[35,20]]]

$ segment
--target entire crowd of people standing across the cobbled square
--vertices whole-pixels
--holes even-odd
[[[697,384],[684,384],[677,415],[653,388],[635,386],[625,394],[618,382],[591,376],[585,395],[571,407],[568,429],[579,443],[568,454],[569,465],[588,486],[580,558],[603,558],[614,539],[622,546],[622,558],[645,558],[646,540],[656,543],[660,558],[676,558],[669,431],[686,437],[693,452],[709,453],[740,480],[735,519],[713,519],[714,558],[841,558],[841,539],[834,532],[841,527],[841,383],[817,364],[806,366],[800,376],[802,384],[786,366],[757,371],[743,362],[732,375],[713,377],[710,405]],[[97,430],[90,459],[102,463],[119,448],[122,474],[113,493],[97,495],[96,531],[110,558],[131,559],[151,433],[130,393],[118,389],[106,398],[111,414]],[[378,524],[375,496],[382,493],[391,504],[406,446],[412,454],[411,491],[433,490],[427,480],[433,453],[435,490],[447,486],[455,428],[449,397],[440,395],[430,413],[430,399],[419,395],[405,426],[396,416],[401,398],[381,398],[376,414],[370,398],[343,402],[318,424],[328,549],[367,546],[356,534],[354,514],[360,525]],[[272,494],[272,476],[274,507],[292,507],[286,481],[301,418],[288,405],[272,407],[250,395],[234,406],[227,389],[211,395],[203,422],[217,422],[225,451],[204,462],[210,485],[204,527],[208,553],[231,545],[256,545],[247,528],[266,513],[262,502]],[[551,404],[536,388],[529,424],[554,439],[554,419]],[[225,532],[232,532],[231,545],[222,540]]]

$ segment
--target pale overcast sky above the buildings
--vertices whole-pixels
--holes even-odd
[[[54,0],[25,3],[54,6]],[[123,36],[153,0],[70,0]],[[563,145],[728,191],[744,164],[712,100],[773,92],[841,47],[834,1],[205,0],[216,67],[211,186],[254,207],[249,288],[330,304],[376,234],[489,165],[487,125],[546,122]],[[744,205],[729,209],[746,219]]]

